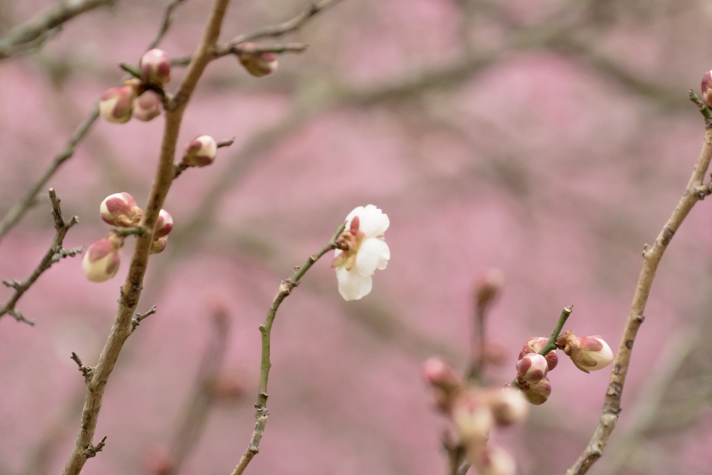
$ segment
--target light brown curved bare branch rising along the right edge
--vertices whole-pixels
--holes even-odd
[[[645,319],[645,306],[650,295],[651,286],[653,285],[655,272],[676,231],[693,206],[701,199],[701,196],[704,196],[701,194],[701,189],[705,189],[703,180],[711,160],[712,129],[708,128],[705,133],[699,158],[680,201],[663,226],[654,244],[651,246],[646,244],[644,246],[643,266],[635,288],[633,302],[623,330],[618,353],[613,360],[611,377],[606,391],[601,417],[588,446],[576,463],[566,472],[567,475],[585,474],[590,466],[595,464],[602,456],[608,438],[615,428],[618,414],[621,412],[621,397],[630,365],[633,343],[638,334],[640,325],[642,325]]]

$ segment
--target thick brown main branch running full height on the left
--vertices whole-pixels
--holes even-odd
[[[93,377],[87,384],[79,433],[68,457],[63,475],[78,475],[86,460],[93,456],[92,454],[96,451],[90,449],[94,447],[92,440],[99,418],[104,390],[123,345],[132,331],[132,318],[143,288],[143,278],[153,240],[153,229],[156,226],[159,211],[163,206],[174,177],[173,157],[183,113],[199,78],[210,61],[211,51],[219,37],[220,27],[228,3],[229,0],[216,0],[214,2],[193,61],[188,66],[186,75],[172,100],[171,107],[166,110],[155,178],[148,195],[148,202],[144,208],[144,214],[139,223],[140,227],[148,229],[150,232],[146,232],[136,238],[126,280],[121,288],[116,318],[99,357],[99,362],[95,367]]]

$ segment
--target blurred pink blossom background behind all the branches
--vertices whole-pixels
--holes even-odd
[[[0,31],[50,2],[0,4]],[[163,2],[118,1],[70,21],[41,51],[0,62],[0,214],[68,140],[93,101],[136,63]],[[222,38],[291,18],[305,1],[234,2]],[[209,7],[179,7],[161,47],[192,53]],[[185,172],[166,209],[175,227],[152,256],[139,310],[110,378],[84,474],[150,474],[172,441],[211,341],[211,308],[229,309],[226,380],[243,397],[212,408],[184,474],[229,474],[253,429],[258,325],[282,278],[325,244],[354,207],[391,220],[392,259],[358,302],[337,293],[330,257],[281,307],[272,334],[271,412],[250,474],[445,474],[420,365],[466,365],[473,283],[506,273],[489,321],[510,348],[491,381],[514,375],[530,335],[566,328],[617,348],[641,265],[686,182],[703,122],[687,99],[712,68],[712,9],[691,0],[345,0],[300,33],[301,55],[249,76],[211,63],[189,105],[184,143],[236,137],[216,163]],[[174,70],[171,86],[183,71]],[[51,180],[80,224],[66,246],[108,227],[114,192],[146,202],[161,120],[99,121]],[[35,268],[53,236],[46,194],[0,243],[0,278]],[[703,474],[712,455],[712,209],[703,202],[659,268],[635,343],[623,412],[591,474]],[[122,268],[85,280],[80,258],[51,268],[19,303],[36,326],[0,319],[0,474],[59,473],[78,430],[83,380],[115,315]],[[0,301],[11,295],[0,288]],[[562,355],[560,355],[562,356]],[[563,361],[553,395],[496,437],[522,474],[562,474],[597,422],[609,370]]]

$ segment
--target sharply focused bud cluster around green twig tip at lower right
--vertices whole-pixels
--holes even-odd
[[[551,395],[547,377],[558,363],[555,350],[542,355],[548,338],[530,337],[524,344],[516,364],[516,383],[531,404],[543,404]],[[613,352],[600,336],[577,337],[568,330],[556,339],[555,347],[563,350],[574,365],[584,372],[600,370],[613,360]]]

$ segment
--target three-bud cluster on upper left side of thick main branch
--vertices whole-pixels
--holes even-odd
[[[108,122],[123,124],[131,118],[146,122],[160,115],[171,62],[164,51],[152,49],[142,56],[139,71],[140,78],[127,80],[101,95],[99,113]]]

